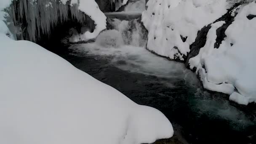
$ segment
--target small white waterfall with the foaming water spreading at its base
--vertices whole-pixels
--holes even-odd
[[[116,18],[107,19],[108,29],[101,32],[95,42],[71,45],[71,54],[95,60],[107,59],[112,66],[129,72],[183,78],[186,72],[184,64],[168,61],[147,51],[147,30],[140,18],[122,20],[123,15],[113,13],[111,17],[113,15]]]

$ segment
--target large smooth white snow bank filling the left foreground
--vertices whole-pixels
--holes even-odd
[[[1,144],[142,144],[173,135],[157,109],[134,103],[35,43],[12,40],[3,26]]]

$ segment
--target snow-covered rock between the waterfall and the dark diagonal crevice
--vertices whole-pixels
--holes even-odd
[[[142,22],[149,31],[147,48],[184,60],[198,30],[227,12],[226,0],[149,0]]]

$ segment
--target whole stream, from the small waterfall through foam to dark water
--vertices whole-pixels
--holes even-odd
[[[256,144],[256,104],[242,106],[202,88],[184,64],[149,53],[141,23],[108,19],[95,43],[62,45],[53,52],[138,104],[159,109],[175,136],[158,144]],[[121,38],[120,38],[121,37]]]

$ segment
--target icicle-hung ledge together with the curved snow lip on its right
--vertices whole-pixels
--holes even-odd
[[[90,27],[93,27],[90,19],[94,21],[94,32],[85,32],[82,35],[83,40],[95,38],[106,28],[106,17],[94,0],[16,0],[11,5],[9,13],[16,25],[27,25],[25,39],[31,41],[40,39],[41,35],[49,36],[51,29],[67,21],[70,15],[72,19],[81,24],[86,23]]]

